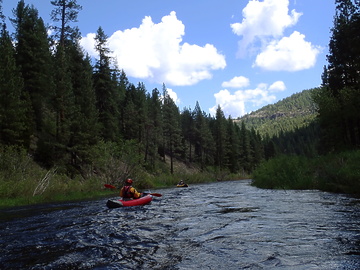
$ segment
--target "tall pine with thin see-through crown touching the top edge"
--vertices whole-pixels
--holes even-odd
[[[59,164],[68,165],[74,163],[72,149],[72,132],[75,117],[79,113],[79,107],[75,105],[75,94],[71,76],[70,48],[76,44],[80,33],[76,27],[71,26],[77,21],[77,15],[81,6],[76,0],[51,1],[54,9],[51,18],[54,22],[60,22],[60,26],[54,25],[55,38],[58,38],[55,50],[54,78],[56,82],[54,110],[56,113],[56,143],[53,158]]]

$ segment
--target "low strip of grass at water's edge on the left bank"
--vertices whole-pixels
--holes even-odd
[[[46,172],[43,172],[45,174]],[[28,175],[28,174],[26,174]],[[104,184],[111,183],[120,188],[122,183],[105,182],[101,178],[84,181],[80,178],[69,179],[66,176],[53,174],[50,179],[37,180],[23,176],[22,180],[0,181],[0,208],[35,205],[53,202],[82,201],[99,199],[106,196],[117,196],[118,189],[107,189]],[[238,175],[227,175],[223,180],[241,179]],[[248,177],[243,177],[248,178]],[[211,183],[217,181],[210,173],[162,174],[157,177],[143,176],[135,180],[134,187],[139,191],[174,187],[183,179],[188,184]]]

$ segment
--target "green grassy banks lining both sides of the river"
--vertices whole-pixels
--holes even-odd
[[[0,208],[51,202],[80,201],[117,195],[118,191],[104,188],[110,183],[120,187],[119,182],[106,178],[80,177],[70,179],[55,169],[44,170],[36,164],[20,162],[18,167],[3,174],[0,181]],[[317,189],[360,196],[360,151],[344,152],[308,159],[299,156],[280,156],[262,163],[253,176],[224,174],[221,180],[254,179],[253,185],[264,189]],[[219,180],[214,172],[187,170],[177,164],[174,175],[162,173],[157,176],[138,173],[135,187],[151,190],[175,186],[180,179],[189,184],[210,183]],[[182,167],[181,167],[182,166]],[[39,180],[40,179],[40,180]]]

